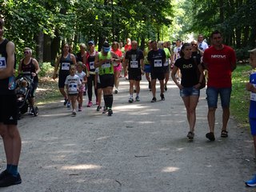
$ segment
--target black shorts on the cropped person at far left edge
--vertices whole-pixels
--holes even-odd
[[[18,105],[15,94],[0,95],[0,122],[5,125],[17,125]]]

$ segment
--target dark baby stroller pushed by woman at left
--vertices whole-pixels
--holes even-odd
[[[18,102],[18,119],[21,118],[22,114],[26,114],[29,107],[31,109],[31,114],[38,116],[38,107],[32,106],[29,102],[33,81],[34,77],[31,77],[30,72],[23,72],[22,74],[19,74],[17,78],[15,78],[15,93]]]

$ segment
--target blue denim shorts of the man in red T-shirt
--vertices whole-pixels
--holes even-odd
[[[218,94],[220,95],[222,107],[230,107],[230,96],[231,96],[232,88],[214,88],[207,87],[206,95],[207,95],[207,104],[209,108],[217,108],[218,106]]]

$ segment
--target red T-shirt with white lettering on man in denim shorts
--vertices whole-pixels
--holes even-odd
[[[206,49],[203,54],[203,62],[208,64],[207,86],[215,88],[228,88],[231,83],[231,63],[236,62],[234,50],[230,46],[216,50],[214,46]]]

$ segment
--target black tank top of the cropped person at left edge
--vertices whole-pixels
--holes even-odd
[[[3,42],[0,44],[0,67],[6,68],[7,65],[7,53],[6,53],[6,45],[9,41],[7,39],[3,40]],[[15,63],[14,63],[14,69],[15,69]],[[9,78],[0,79],[0,94],[14,94],[14,90],[8,89],[8,83]]]

